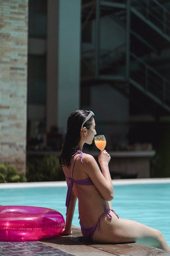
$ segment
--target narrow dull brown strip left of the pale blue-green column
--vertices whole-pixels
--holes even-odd
[[[58,0],[48,0],[47,2],[47,131],[51,126],[57,126],[58,4]]]

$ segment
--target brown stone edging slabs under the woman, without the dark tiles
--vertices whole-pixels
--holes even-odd
[[[43,244],[58,248],[75,256],[170,256],[170,252],[139,243],[97,244],[82,237],[79,227],[72,227],[72,235],[54,237],[41,241]]]

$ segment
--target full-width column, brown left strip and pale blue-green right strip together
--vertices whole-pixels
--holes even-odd
[[[48,0],[48,29],[47,128],[65,133],[80,103],[81,1]]]

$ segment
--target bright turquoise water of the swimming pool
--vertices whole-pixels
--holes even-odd
[[[0,189],[0,205],[31,205],[59,211],[65,218],[67,187]],[[170,184],[114,185],[113,209],[120,218],[159,229],[170,245]],[[78,201],[73,225],[79,226]]]

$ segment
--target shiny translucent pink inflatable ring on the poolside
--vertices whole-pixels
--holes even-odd
[[[37,241],[64,228],[63,215],[34,206],[0,206],[0,241]]]

